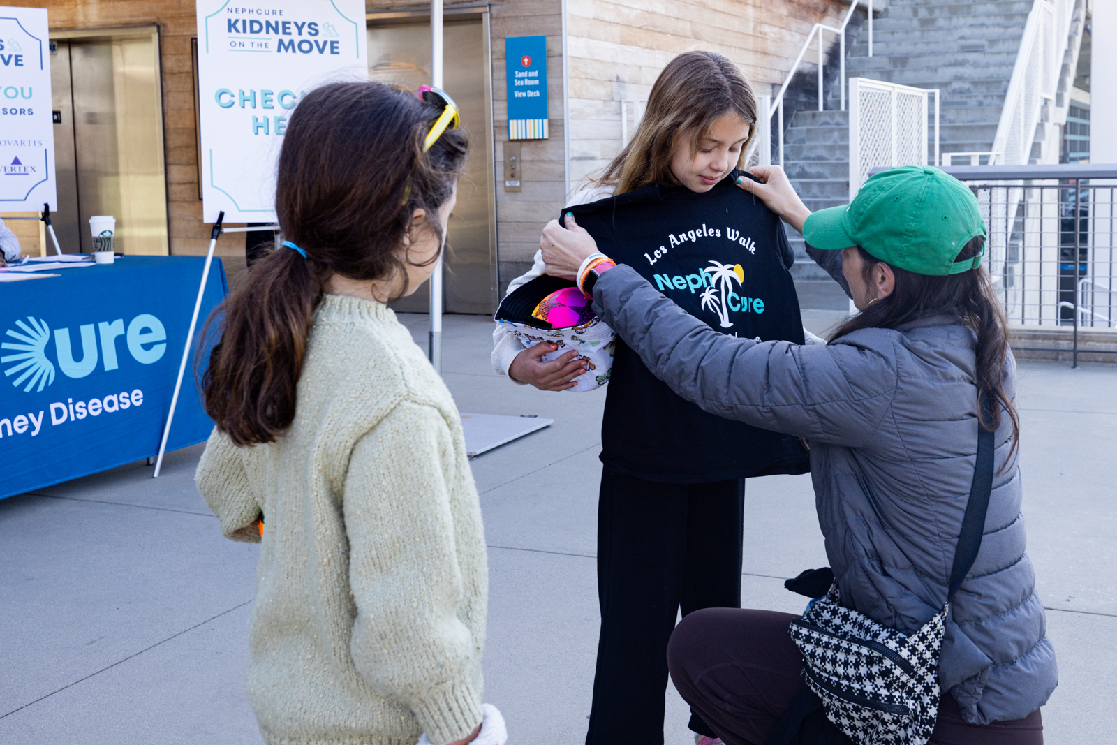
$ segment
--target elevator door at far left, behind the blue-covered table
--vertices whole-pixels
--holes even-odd
[[[154,39],[58,39],[50,55],[64,252],[93,250],[89,218],[116,218],[116,250],[165,255],[166,179]]]

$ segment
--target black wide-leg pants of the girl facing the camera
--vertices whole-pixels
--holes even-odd
[[[741,608],[744,504],[744,479],[660,484],[602,472],[601,637],[586,745],[663,742],[667,642],[679,608]],[[714,734],[697,716],[690,728]]]

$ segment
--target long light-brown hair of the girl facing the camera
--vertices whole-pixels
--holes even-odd
[[[648,108],[624,150],[592,179],[615,187],[623,194],[652,183],[676,183],[671,151],[676,139],[694,128],[690,155],[698,153],[703,137],[726,114],[748,124],[748,139],[756,132],[756,97],[741,69],[714,51],[687,51],[667,64],[648,96]],[[747,142],[737,168],[744,166]]]

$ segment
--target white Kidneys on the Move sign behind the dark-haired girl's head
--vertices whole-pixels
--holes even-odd
[[[275,220],[275,170],[309,90],[367,80],[364,0],[198,0],[202,219]]]

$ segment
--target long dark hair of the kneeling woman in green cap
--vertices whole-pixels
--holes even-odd
[[[958,252],[955,261],[970,259],[981,252],[984,237],[975,236]],[[861,257],[861,278],[866,288],[872,287],[872,270],[887,264],[858,247]],[[1004,391],[1004,361],[1009,353],[1008,318],[996,297],[984,266],[945,277],[907,271],[888,264],[896,277],[896,288],[882,300],[870,303],[831,335],[831,341],[859,328],[897,328],[918,318],[936,315],[957,315],[977,336],[974,378],[978,397],[991,395],[1000,405],[991,407],[991,419],[984,420],[981,407],[977,416],[981,426],[996,431],[1001,426],[1001,409],[1012,419],[1012,450],[1003,468],[1012,462],[1020,442],[1020,417],[1012,399]],[[868,299],[868,298],[865,298]],[[980,400],[980,399],[978,399]],[[1003,469],[1002,469],[1003,470]]]

